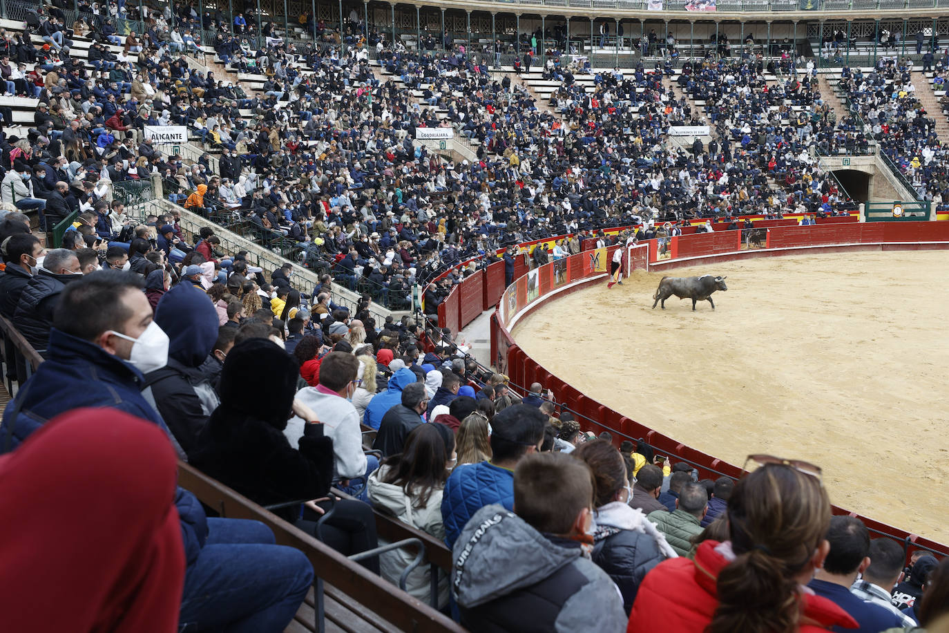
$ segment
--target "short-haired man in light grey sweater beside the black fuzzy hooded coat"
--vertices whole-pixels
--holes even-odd
[[[304,387],[297,392],[296,400],[317,412],[323,423],[323,433],[333,439],[333,455],[336,457],[334,479],[351,479],[367,475],[368,461],[363,453],[363,432],[359,425],[359,414],[348,399],[356,393],[356,375],[359,361],[352,354],[329,352],[320,363],[320,382],[315,387]],[[307,422],[313,420],[294,417],[290,419],[284,435],[290,446],[296,446],[303,438]],[[379,465],[373,457],[373,469]]]

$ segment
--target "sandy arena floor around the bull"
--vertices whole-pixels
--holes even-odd
[[[949,541],[949,251],[773,257],[639,272],[552,301],[514,339],[558,377],[671,438],[741,465],[812,461],[831,500]],[[728,275],[716,310],[663,274]]]

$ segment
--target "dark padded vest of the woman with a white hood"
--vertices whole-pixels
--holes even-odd
[[[620,587],[623,608],[629,613],[646,572],[665,560],[665,556],[648,534],[617,528],[607,530],[615,533],[596,542],[591,558]]]

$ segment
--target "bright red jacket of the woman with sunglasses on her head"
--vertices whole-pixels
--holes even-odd
[[[654,629],[702,633],[718,606],[718,572],[728,565],[717,545],[703,541],[695,561],[670,558],[649,571],[636,594],[626,633]],[[857,628],[857,622],[827,598],[802,593],[801,600],[800,633],[819,633],[834,625]]]

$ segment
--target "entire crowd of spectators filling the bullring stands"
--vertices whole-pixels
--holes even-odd
[[[873,133],[894,157],[932,152],[905,168],[936,199],[941,149],[902,90],[904,68],[884,64],[866,78],[845,69],[860,105],[843,121],[809,72],[773,82],[763,62],[747,60],[683,66],[679,97],[664,68],[601,72],[588,91],[575,81],[583,69],[554,62],[544,72],[561,86],[548,107],[510,76],[494,78],[488,59],[438,54],[433,43],[387,46],[355,12],[342,32],[308,23],[317,42],[297,47],[272,25],[257,33],[241,12],[232,23],[183,4],[142,16],[110,5],[86,27],[124,49],[115,61],[105,47],[92,60],[90,49],[89,64],[102,67],[89,70],[69,56],[77,25],[68,33],[61,9],[38,13],[43,45],[16,45],[17,62],[36,55],[25,64],[46,61],[48,74],[8,85],[39,88],[42,106],[28,138],[8,137],[0,155],[11,205],[0,219],[0,314],[46,360],[6,407],[0,437],[11,455],[0,457],[0,476],[22,481],[68,453],[68,463],[96,467],[83,484],[90,507],[116,513],[139,506],[121,487],[94,486],[99,477],[145,481],[145,466],[163,477],[153,477],[155,490],[142,483],[140,516],[121,540],[128,549],[115,555],[136,565],[105,566],[70,586],[73,602],[96,598],[82,605],[84,618],[134,630],[160,611],[169,622],[152,624],[162,630],[276,633],[303,602],[307,558],[274,545],[263,524],[208,517],[175,487],[177,456],[344,555],[378,546],[373,507],[444,540],[454,570],[436,579],[433,606],[471,630],[939,630],[949,564],[922,556],[901,578],[902,549],[871,542],[856,519],[830,517],[818,467],[753,456],[737,483],[699,481],[643,442],[617,449],[608,433],[580,433],[540,384],[515,394],[453,332],[407,317],[377,323],[369,309],[374,296],[409,305],[413,284],[473,256],[507,246],[512,264],[511,245],[534,236],[647,220],[628,236],[636,239],[658,234],[655,219],[846,210],[815,158],[860,148],[865,130],[853,114],[881,126]],[[117,35],[136,18],[151,28]],[[211,27],[231,68],[266,74],[264,95],[174,59]],[[251,47],[258,37],[264,45]],[[385,72],[422,90],[421,102],[377,78],[368,48]],[[705,117],[715,129],[707,145],[679,147],[665,133]],[[207,157],[185,165],[140,134],[171,123],[219,149],[216,166]],[[473,140],[477,160],[412,142],[416,128],[439,125]],[[303,245],[306,265],[324,271],[320,283],[295,287],[289,264],[268,281],[247,253],[221,251],[212,227],[182,233],[179,211],[129,218],[108,184],[156,173],[196,214],[245,223],[264,243],[281,235]],[[31,233],[19,212],[33,210],[47,231],[80,212],[62,248]],[[533,253],[537,264],[546,256]],[[428,286],[430,310],[463,274]],[[333,303],[337,283],[368,292],[345,309]],[[90,419],[75,412],[85,407],[108,408]],[[31,521],[48,505],[35,493],[4,504],[5,515]],[[83,549],[84,533],[57,548]],[[11,554],[27,551],[31,534],[11,530],[3,542]],[[129,553],[141,544],[147,561]],[[24,573],[20,554],[0,557],[9,566],[0,576],[31,578],[35,586],[15,593],[25,600],[47,596],[49,577]],[[409,563],[402,551],[362,561],[393,583]],[[119,604],[103,600],[130,569],[148,570],[148,582],[126,583]],[[431,573],[406,579],[424,602]],[[9,585],[4,595],[14,595]],[[8,614],[18,630],[30,628],[20,620],[28,604]]]

